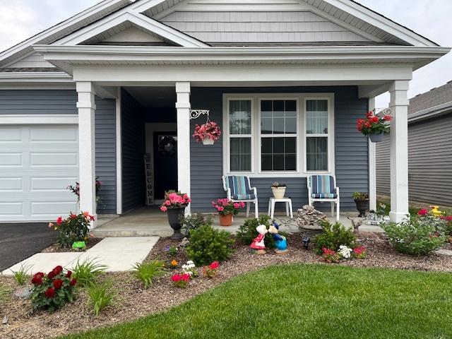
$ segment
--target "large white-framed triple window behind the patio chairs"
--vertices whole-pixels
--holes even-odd
[[[333,93],[223,95],[225,174],[335,174]]]

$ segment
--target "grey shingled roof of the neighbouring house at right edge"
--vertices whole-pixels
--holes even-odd
[[[408,119],[417,121],[452,112],[452,81],[410,99]]]

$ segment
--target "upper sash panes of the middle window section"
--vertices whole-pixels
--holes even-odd
[[[261,134],[296,133],[296,100],[261,100]]]

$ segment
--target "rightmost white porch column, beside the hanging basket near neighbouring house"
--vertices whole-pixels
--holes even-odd
[[[391,121],[391,212],[393,222],[408,215],[408,86],[394,81],[389,88],[393,112]]]

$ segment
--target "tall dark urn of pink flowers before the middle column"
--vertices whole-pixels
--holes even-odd
[[[172,239],[182,239],[184,235],[181,233],[182,224],[180,220],[184,217],[186,206],[191,203],[191,198],[179,191],[165,192],[165,200],[160,206],[162,212],[168,213],[169,226],[174,230]]]

